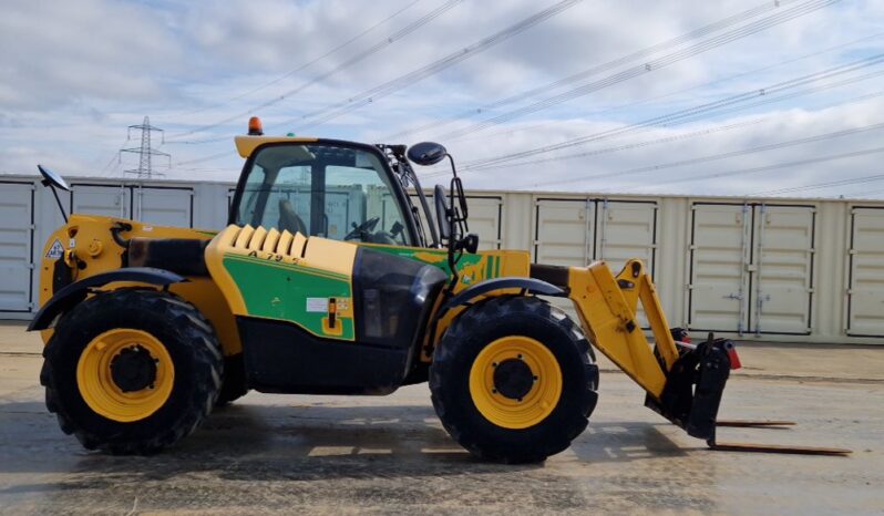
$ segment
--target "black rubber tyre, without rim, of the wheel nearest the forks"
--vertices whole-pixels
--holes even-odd
[[[489,421],[470,391],[479,353],[507,336],[539,341],[562,373],[555,409],[518,430]],[[562,310],[535,297],[500,297],[467,308],[445,331],[430,368],[433,406],[449,434],[480,458],[510,464],[542,462],[567,448],[586,429],[597,385],[598,368],[583,332]]]

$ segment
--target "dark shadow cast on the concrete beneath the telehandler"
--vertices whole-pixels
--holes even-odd
[[[40,402],[0,405],[0,472],[68,474],[55,481],[0,486],[0,495],[93,489],[120,482],[214,474],[230,481],[444,477],[512,473],[543,464],[485,463],[445,433],[429,405],[341,406],[237,403],[213,413],[181,444],[153,456],[88,452],[58,429]],[[9,441],[8,441],[9,442]],[[655,425],[590,423],[572,452],[579,462],[679,456]],[[566,452],[568,453],[568,452]]]

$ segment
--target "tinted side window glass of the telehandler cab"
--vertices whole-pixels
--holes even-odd
[[[244,173],[238,225],[413,245],[393,179],[376,153],[328,143],[268,145]]]

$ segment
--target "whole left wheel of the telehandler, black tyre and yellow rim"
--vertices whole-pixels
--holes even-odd
[[[40,379],[47,407],[86,448],[150,454],[208,415],[224,359],[191,303],[154,290],[99,293],[56,324]]]

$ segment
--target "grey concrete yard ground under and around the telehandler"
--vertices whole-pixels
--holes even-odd
[[[41,348],[0,326],[0,513],[883,514],[884,348],[743,345],[721,417],[791,430],[722,441],[830,445],[850,457],[712,452],[643,406],[602,362],[573,446],[483,464],[439,424],[425,385],[387,398],[250,393],[153,457],[86,452],[47,413]]]

